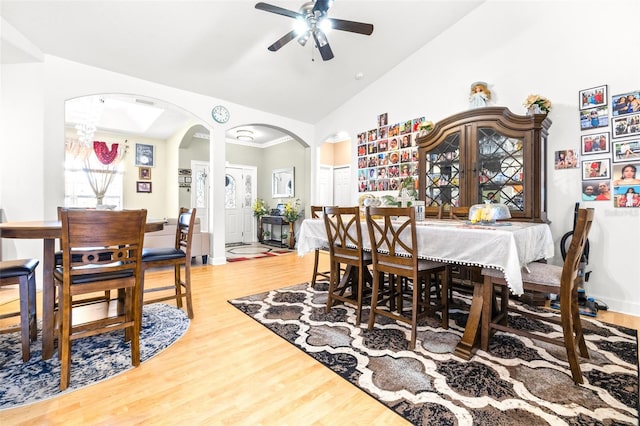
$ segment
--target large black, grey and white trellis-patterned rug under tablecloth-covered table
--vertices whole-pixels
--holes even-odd
[[[468,313],[451,310],[448,330],[437,318],[421,323],[411,351],[404,323],[378,316],[368,331],[368,309],[360,327],[348,305],[327,314],[326,288],[305,283],[229,302],[414,424],[638,423],[636,330],[583,319],[591,358],[576,386],[561,346],[498,332],[488,353],[465,361],[452,353]]]

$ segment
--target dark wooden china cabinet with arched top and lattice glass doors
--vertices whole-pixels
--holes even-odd
[[[439,206],[487,199],[509,207],[516,221],[548,222],[546,114],[516,115],[505,107],[464,111],[416,139],[419,198],[427,214]]]

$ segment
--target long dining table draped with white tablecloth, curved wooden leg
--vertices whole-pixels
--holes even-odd
[[[362,243],[371,249],[366,222],[361,219]],[[458,265],[494,268],[504,273],[511,293],[523,294],[522,268],[554,255],[551,228],[547,223],[501,221],[491,224],[466,220],[427,219],[416,222],[418,256],[421,259]],[[327,247],[323,219],[305,219],[298,235],[298,255]],[[483,307],[482,282],[474,282],[469,318],[455,354],[470,359],[477,348]]]

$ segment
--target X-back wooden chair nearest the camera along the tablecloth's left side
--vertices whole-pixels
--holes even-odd
[[[411,326],[409,348],[414,349],[419,319],[440,311],[442,327],[449,328],[447,294],[450,265],[418,258],[413,207],[367,207],[365,215],[373,256],[369,330],[373,328],[376,315],[408,323]],[[385,275],[395,291],[387,298],[380,298]],[[439,282],[432,281],[434,275],[440,276]],[[433,301],[432,285],[440,290]],[[407,288],[410,289],[409,313],[404,308]]]

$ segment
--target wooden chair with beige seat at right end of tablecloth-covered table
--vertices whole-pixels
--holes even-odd
[[[562,337],[554,338],[548,334],[510,326],[507,317],[509,313],[509,288],[507,282],[501,271],[483,268],[482,350],[487,351],[489,349],[489,339],[494,330],[511,332],[530,339],[564,346],[567,351],[567,360],[571,368],[573,381],[576,384],[583,382],[577,351],[579,350],[580,355],[584,358],[589,358],[589,352],[582,333],[577,278],[580,258],[593,223],[593,217],[593,208],[578,210],[573,238],[562,266],[533,262],[527,265],[528,271],[523,270],[522,272],[525,291],[544,293],[545,297],[550,293],[560,296],[560,318],[558,320],[557,316],[538,315],[523,311],[517,311],[517,313],[538,321],[559,324],[562,329]],[[497,308],[497,303],[494,301],[496,287],[501,289],[499,312],[494,312],[494,307]]]

